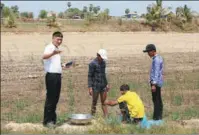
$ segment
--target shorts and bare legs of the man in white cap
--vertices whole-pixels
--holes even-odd
[[[104,104],[106,100],[106,96],[107,96],[107,92],[105,91],[93,91],[91,114],[95,115],[96,113],[96,105],[97,105],[97,100],[98,100],[99,95],[101,99],[102,111],[104,113],[104,116],[107,116],[108,115],[107,106]]]

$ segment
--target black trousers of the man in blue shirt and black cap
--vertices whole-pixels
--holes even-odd
[[[152,100],[154,105],[153,120],[161,120],[163,111],[161,87],[156,86],[156,91],[152,92]]]

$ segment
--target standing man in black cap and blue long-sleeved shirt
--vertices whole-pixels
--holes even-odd
[[[154,104],[153,120],[162,120],[163,103],[161,87],[163,85],[163,59],[157,54],[154,44],[148,44],[143,52],[147,52],[149,57],[152,58],[150,85]]]

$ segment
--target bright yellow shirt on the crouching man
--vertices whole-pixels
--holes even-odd
[[[131,91],[127,91],[124,95],[117,99],[118,103],[126,102],[129,114],[132,118],[144,117],[144,105],[140,97]]]

